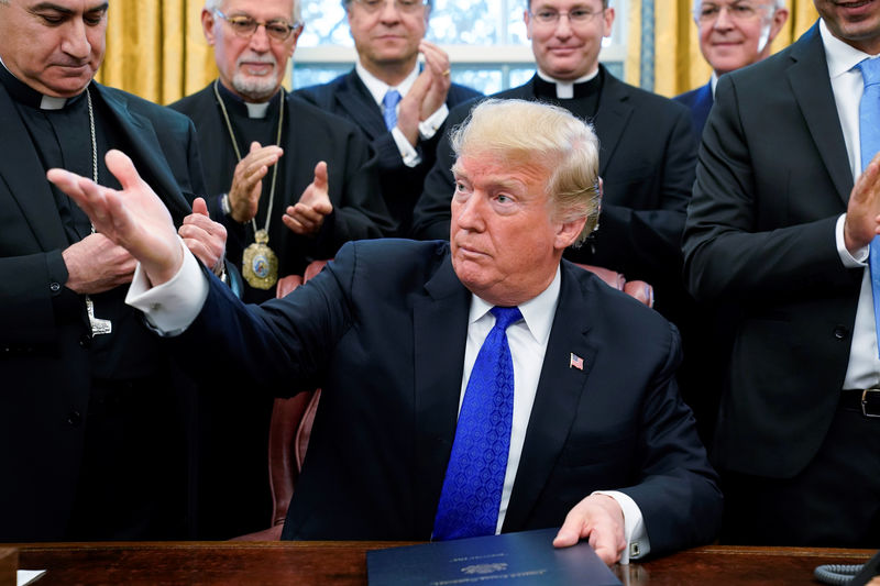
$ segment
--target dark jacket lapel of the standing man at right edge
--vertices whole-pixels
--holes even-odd
[[[853,189],[853,172],[849,168],[832,84],[825,75],[828,65],[818,23],[795,43],[791,58],[793,64],[788,69],[788,76],[794,99],[801,108],[837,195],[846,203]],[[822,75],[816,75],[816,71],[822,71]]]

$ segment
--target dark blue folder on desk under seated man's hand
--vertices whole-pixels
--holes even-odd
[[[366,553],[370,586],[620,586],[585,541],[553,548],[557,529],[438,541]]]

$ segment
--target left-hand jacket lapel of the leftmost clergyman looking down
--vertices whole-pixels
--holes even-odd
[[[40,155],[34,148],[19,111],[0,85],[0,129],[3,129],[3,156],[0,156],[0,181],[6,183],[12,199],[18,203],[30,224],[41,250],[66,248],[65,237],[55,198]]]

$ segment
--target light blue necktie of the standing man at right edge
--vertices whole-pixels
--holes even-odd
[[[861,144],[861,173],[880,151],[880,58],[865,59],[857,66],[861,69],[865,93],[859,104],[859,143]],[[873,295],[873,319],[880,347],[880,236],[871,240],[868,252]]]

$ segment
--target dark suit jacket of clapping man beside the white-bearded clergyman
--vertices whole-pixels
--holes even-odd
[[[400,158],[400,152],[392,133],[385,128],[382,110],[356,70],[352,69],[328,84],[302,88],[297,90],[296,95],[328,112],[351,120],[363,131],[378,154],[382,195],[398,224],[398,232],[406,235],[409,232],[413,207],[421,195],[425,176],[433,167],[437,158],[437,143],[448,126],[444,124],[428,141],[420,140],[416,150],[421,156],[421,163],[415,167],[407,167]],[[447,107],[452,110],[455,106],[477,96],[482,93],[452,84],[447,95]]]

